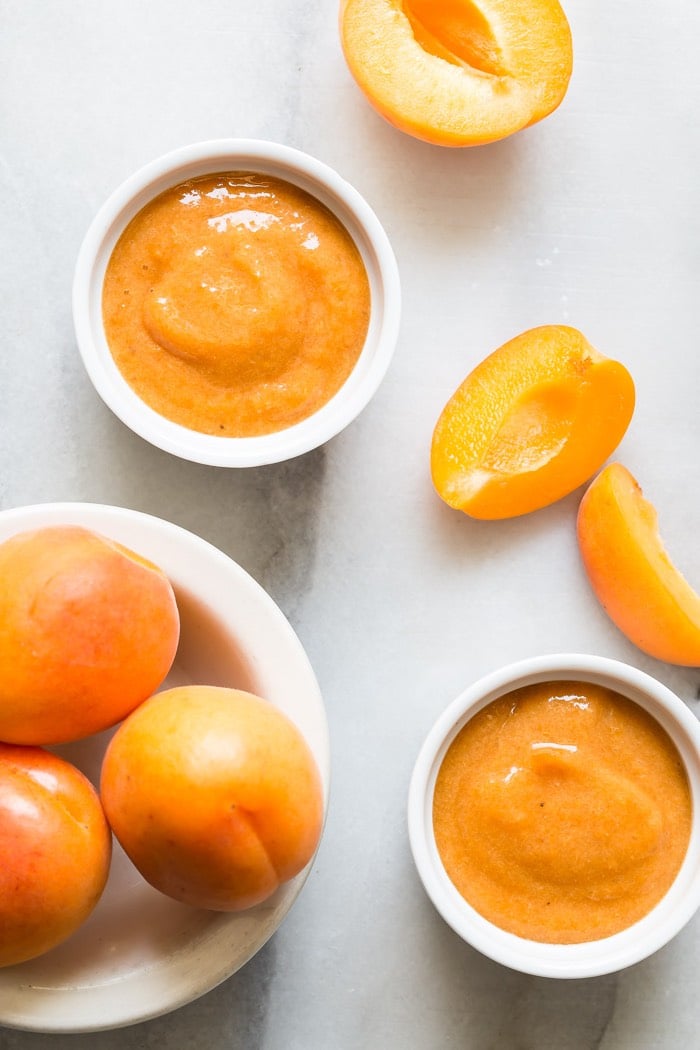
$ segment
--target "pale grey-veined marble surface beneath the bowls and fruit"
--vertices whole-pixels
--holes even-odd
[[[628,660],[695,711],[700,672],[637,652],[588,589],[580,492],[483,524],[428,475],[432,426],[486,353],[534,324],[580,328],[632,371],[619,449],[700,582],[697,171],[700,8],[568,0],[575,72],[559,110],[446,151],[366,105],[336,4],[1,0],[0,506],[121,504],[211,541],[272,594],[327,706],[333,786],[316,866],[237,974],[169,1016],[93,1035],[0,1029],[2,1050],[671,1050],[697,1042],[700,920],[622,973],[524,976],[433,911],[405,828],[410,770],[438,713],[482,673],[547,651]],[[133,169],[226,135],[336,167],[393,240],[405,307],[372,404],[325,447],[227,471],[181,462],[94,394],[71,327],[84,231]]]

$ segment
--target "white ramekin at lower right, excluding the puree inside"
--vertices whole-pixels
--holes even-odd
[[[693,827],[673,885],[649,915],[619,933],[581,944],[543,944],[509,933],[476,912],[450,881],[438,853],[432,797],[438,771],[464,724],[513,689],[553,680],[589,681],[620,693],[648,711],[676,744],[687,773]],[[490,959],[523,973],[589,978],[612,973],[651,956],[674,937],[700,905],[700,726],[674,693],[650,675],[598,656],[539,656],[482,678],[440,716],[420,751],[408,794],[408,833],[423,885],[443,919]]]

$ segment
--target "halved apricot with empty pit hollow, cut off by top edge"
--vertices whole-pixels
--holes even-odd
[[[554,110],[573,65],[558,0],[342,0],[345,60],[390,124],[475,146]]]

